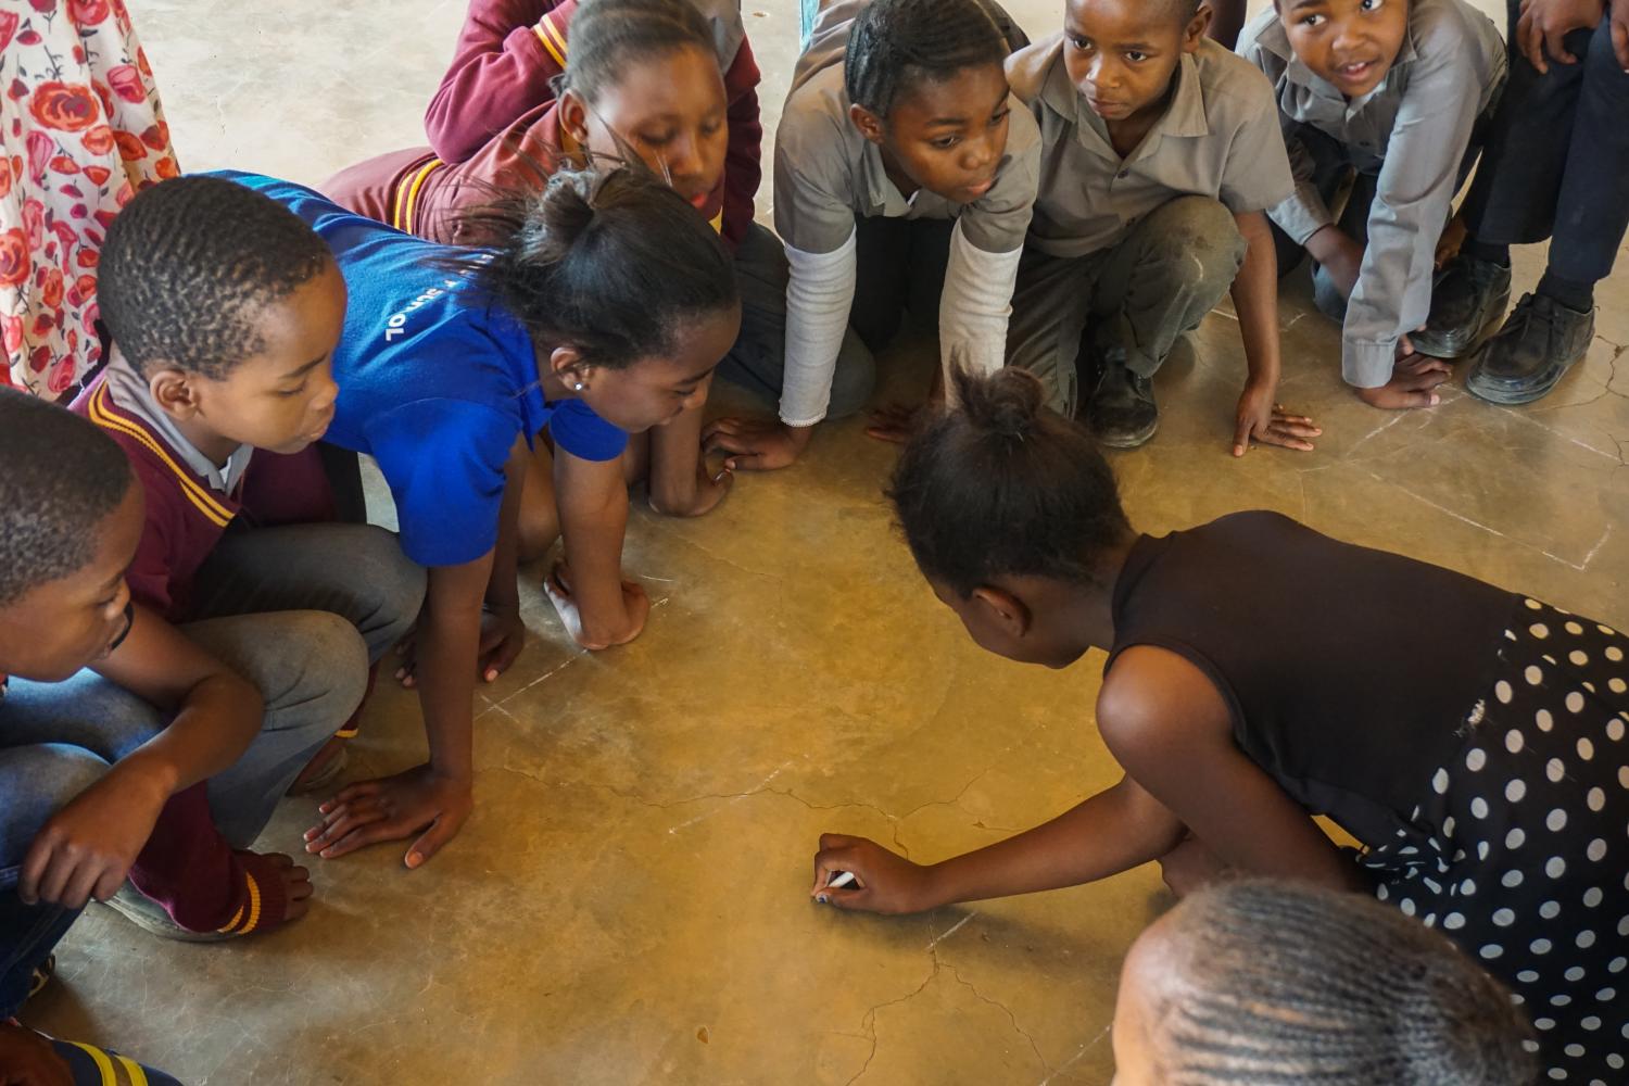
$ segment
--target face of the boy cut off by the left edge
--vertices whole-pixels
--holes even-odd
[[[90,565],[0,607],[0,672],[60,682],[108,655],[129,627],[124,571],[142,541],[142,488],[132,479],[119,508],[98,526]]]

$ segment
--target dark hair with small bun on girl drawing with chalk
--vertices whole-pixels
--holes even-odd
[[[994,576],[1091,583],[1131,531],[1091,435],[1043,405],[1025,370],[955,374],[959,409],[906,444],[888,497],[929,578],[961,596]]]

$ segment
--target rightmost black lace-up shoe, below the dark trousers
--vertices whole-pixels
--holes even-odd
[[[1531,404],[1590,350],[1595,309],[1579,313],[1544,295],[1523,295],[1464,388],[1492,404]]]

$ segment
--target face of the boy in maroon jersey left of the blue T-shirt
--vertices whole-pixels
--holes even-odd
[[[259,316],[264,348],[225,379],[161,370],[153,397],[171,415],[235,444],[298,453],[327,431],[339,388],[332,357],[345,324],[345,280],[329,264],[321,275],[266,304]]]

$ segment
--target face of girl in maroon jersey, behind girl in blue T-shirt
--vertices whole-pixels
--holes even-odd
[[[626,158],[630,147],[696,208],[723,177],[730,142],[718,59],[694,46],[647,57],[585,103],[560,98],[560,124],[593,155]],[[626,140],[621,143],[619,140]]]

